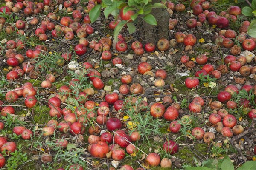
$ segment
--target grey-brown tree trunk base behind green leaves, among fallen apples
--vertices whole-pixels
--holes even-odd
[[[159,2],[158,0],[152,0],[152,4]],[[157,41],[164,37],[168,37],[169,33],[169,13],[163,8],[153,8],[151,14],[157,20],[157,26],[152,26],[146,23],[144,20],[138,20],[137,28],[139,30],[139,38],[143,42],[151,42],[157,44]]]

